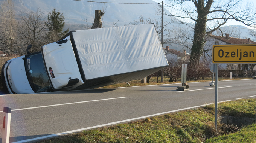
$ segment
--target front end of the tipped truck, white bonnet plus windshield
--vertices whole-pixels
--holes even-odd
[[[34,93],[52,90],[41,52],[6,61],[2,80],[10,94]]]

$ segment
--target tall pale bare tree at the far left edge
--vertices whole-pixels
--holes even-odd
[[[2,43],[1,49],[3,52],[7,52],[8,55],[11,55],[14,52],[17,28],[14,4],[12,0],[7,0],[1,4],[0,8],[1,36],[3,36],[2,40],[5,41]]]

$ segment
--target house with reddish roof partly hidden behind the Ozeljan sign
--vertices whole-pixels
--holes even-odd
[[[206,43],[204,46],[204,56],[212,57],[212,46],[213,45],[226,45],[226,44],[256,44],[256,42],[252,41],[250,38],[248,39],[240,39],[229,37],[229,34],[225,34],[225,36],[215,36],[215,35],[207,35]],[[236,70],[238,67],[244,67],[244,69],[249,70],[248,64],[244,64],[244,66],[238,64],[222,64],[224,69]]]

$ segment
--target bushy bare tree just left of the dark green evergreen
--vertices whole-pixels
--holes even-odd
[[[17,31],[19,41],[17,46],[20,54],[24,54],[30,44],[32,45],[30,52],[38,52],[41,51],[41,46],[49,43],[46,40],[47,28],[40,9],[36,12],[21,13]]]

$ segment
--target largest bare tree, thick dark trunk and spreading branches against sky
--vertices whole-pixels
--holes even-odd
[[[243,0],[168,0],[168,3],[169,7],[176,11],[165,14],[175,16],[180,24],[186,24],[194,30],[190,58],[192,65],[199,64],[206,34],[218,30],[231,19],[247,26],[256,23],[253,5],[247,3],[243,9]]]

